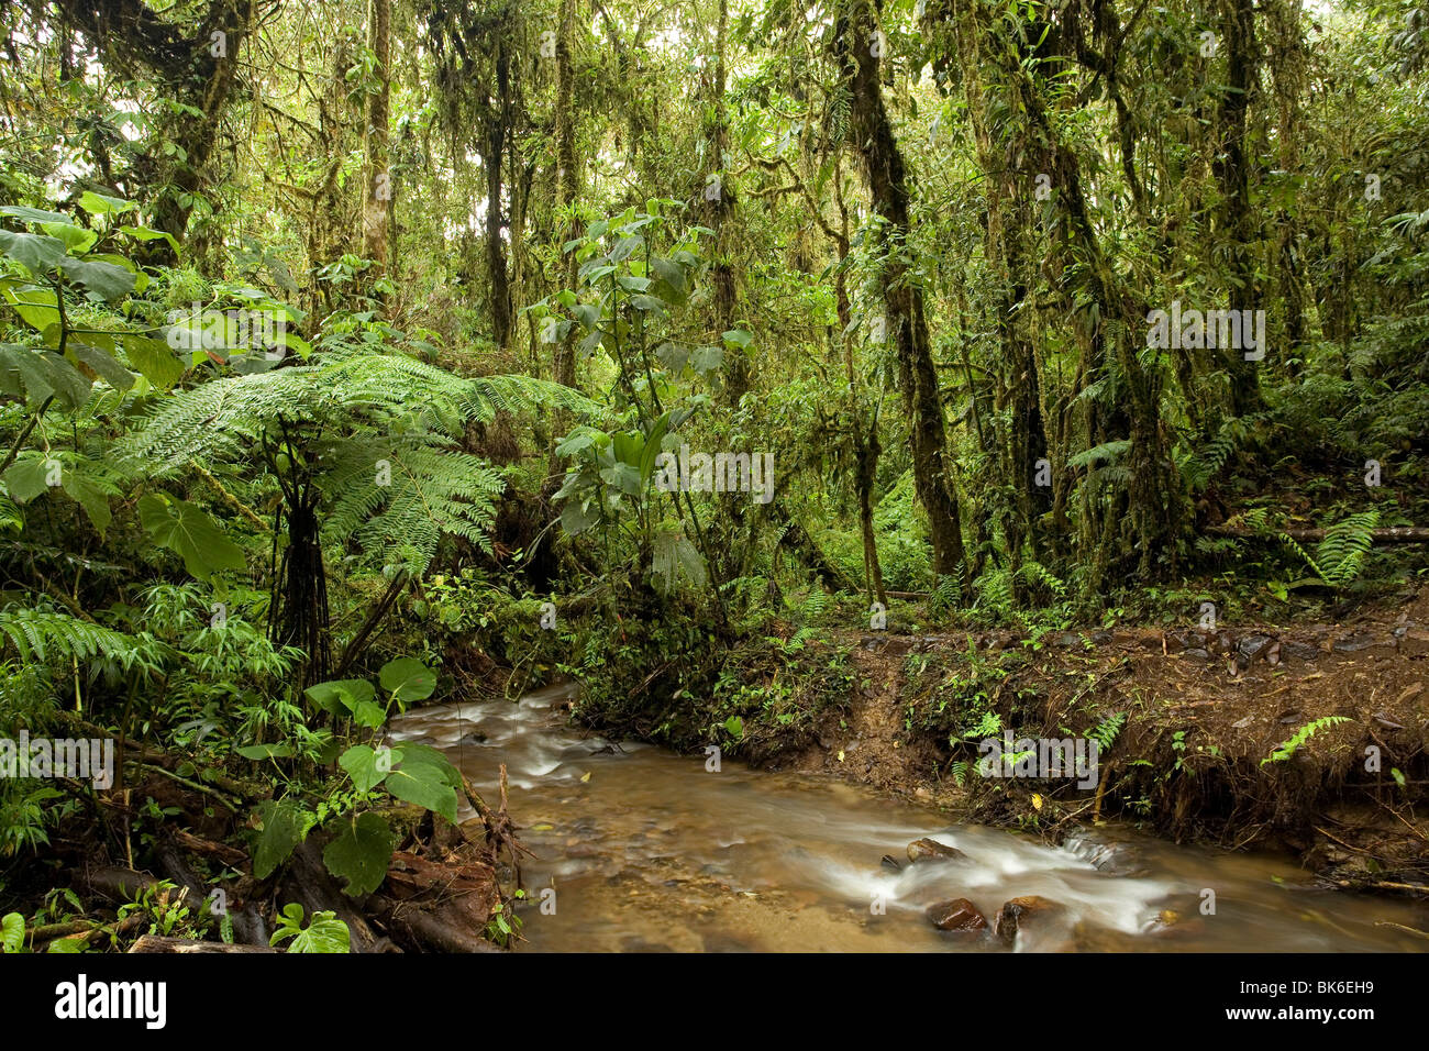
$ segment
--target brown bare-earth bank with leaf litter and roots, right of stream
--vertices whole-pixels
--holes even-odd
[[[773,765],[823,771],[987,824],[1060,839],[1119,816],[1180,841],[1286,849],[1335,887],[1415,892],[1429,882],[1429,588],[1342,623],[1216,632],[1112,629],[856,633],[860,688],[816,742]],[[986,691],[1016,738],[1067,738],[1127,715],[1097,788],[986,779],[975,744],[963,784],[946,735],[917,726],[939,684]],[[1326,725],[1283,761],[1296,731]],[[1000,736],[1000,735],[997,735]],[[1378,748],[1379,769],[1368,758]],[[1398,782],[1395,772],[1403,778]]]

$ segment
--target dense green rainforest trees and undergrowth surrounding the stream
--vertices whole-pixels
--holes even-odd
[[[156,778],[240,897],[310,835],[367,895],[459,802],[519,869],[383,745],[433,696],[569,675],[757,758],[885,616],[1425,571],[1413,0],[27,0],[0,47],[0,735],[119,741],[113,786],[0,778],[31,931],[74,851],[161,847]]]

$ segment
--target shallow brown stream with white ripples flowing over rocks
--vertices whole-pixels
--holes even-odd
[[[1063,848],[949,825],[932,808],[826,778],[614,744],[564,725],[569,686],[434,706],[397,721],[396,739],[442,748],[489,799],[507,766],[510,808],[536,852],[523,878],[527,949],[960,951],[1009,947],[935,929],[925,909],[969,898],[992,922],[1009,898],[1065,909],[1017,951],[1423,951],[1389,921],[1413,907],[1305,889],[1280,858],[1177,848],[1096,831]],[[463,814],[466,819],[470,814]],[[906,864],[932,837],[966,859]],[[902,871],[880,865],[886,854]],[[537,907],[554,888],[554,914]],[[1203,915],[1203,891],[1215,914]],[[550,899],[550,895],[547,895]]]

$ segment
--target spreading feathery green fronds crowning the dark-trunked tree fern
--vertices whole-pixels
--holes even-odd
[[[324,532],[373,559],[422,573],[443,535],[490,551],[504,488],[487,462],[456,452],[464,426],[497,412],[594,403],[529,376],[463,379],[399,353],[343,346],[322,360],[211,380],[167,399],[127,443],[133,473],[164,478],[194,460],[242,463],[254,445],[306,425],[303,455],[322,465]]]

